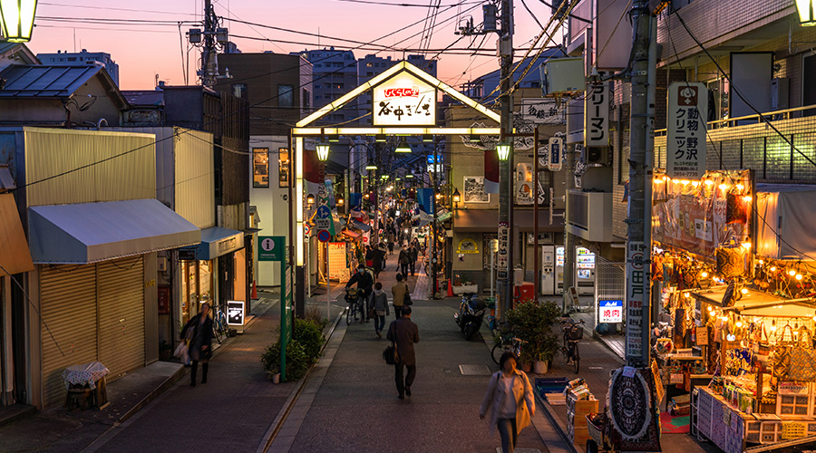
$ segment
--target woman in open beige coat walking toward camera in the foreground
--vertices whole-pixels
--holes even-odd
[[[484,419],[487,410],[491,409],[491,433],[499,428],[504,453],[515,451],[516,437],[521,429],[529,425],[530,417],[536,414],[536,403],[527,374],[516,366],[515,354],[501,354],[499,371],[491,376],[479,411],[479,418]]]

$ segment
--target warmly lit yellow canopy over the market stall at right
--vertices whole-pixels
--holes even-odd
[[[714,286],[710,289],[692,291],[695,299],[717,307],[723,306],[723,296],[728,286]],[[763,293],[753,288],[746,288],[740,300],[725,311],[740,313],[743,316],[774,316],[785,318],[812,318],[816,314],[816,305],[810,299],[783,299],[773,294]]]

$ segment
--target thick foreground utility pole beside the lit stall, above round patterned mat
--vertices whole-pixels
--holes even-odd
[[[627,217],[627,363],[649,366],[652,165],[655,126],[656,18],[648,0],[632,6],[629,199]]]

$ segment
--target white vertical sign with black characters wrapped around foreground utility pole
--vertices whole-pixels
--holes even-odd
[[[642,241],[627,242],[627,361],[639,361],[643,347],[642,325],[644,252]]]

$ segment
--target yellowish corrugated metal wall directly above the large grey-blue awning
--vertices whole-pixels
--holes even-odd
[[[37,128],[24,135],[28,206],[156,198],[151,135]]]

